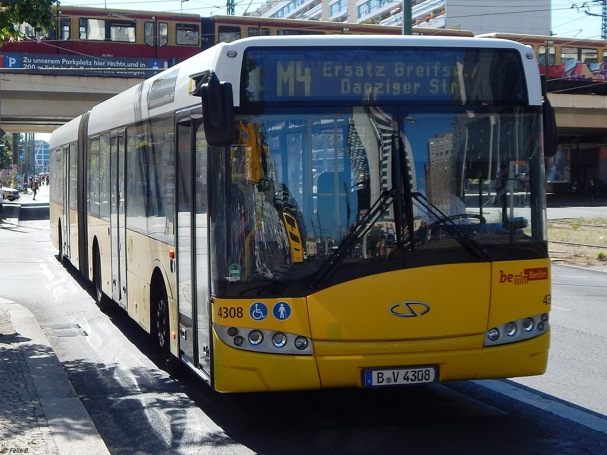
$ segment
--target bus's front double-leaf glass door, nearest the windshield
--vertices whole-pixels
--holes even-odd
[[[200,131],[200,133],[197,133]],[[206,147],[202,121],[177,125],[177,305],[180,354],[210,379]]]

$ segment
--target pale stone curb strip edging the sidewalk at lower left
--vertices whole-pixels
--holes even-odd
[[[32,313],[24,306],[4,298],[0,298],[0,305],[10,315],[8,321],[5,317],[1,318],[0,331],[10,336],[13,328],[12,331],[19,338],[19,346],[59,454],[73,455],[83,451],[92,455],[109,454]]]

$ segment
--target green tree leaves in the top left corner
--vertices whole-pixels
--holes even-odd
[[[13,24],[29,24],[36,36],[55,27],[55,5],[58,0],[0,0],[0,46],[9,39],[24,36]]]

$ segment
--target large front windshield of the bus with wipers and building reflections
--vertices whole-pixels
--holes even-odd
[[[218,165],[215,285],[304,295],[395,269],[546,257],[540,123],[537,107],[239,115]]]

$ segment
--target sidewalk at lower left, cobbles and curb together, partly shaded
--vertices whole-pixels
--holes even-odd
[[[109,454],[32,313],[0,298],[0,454]]]

